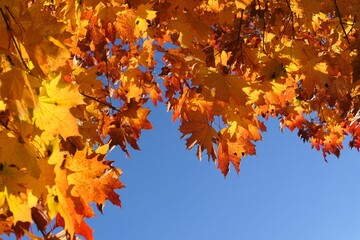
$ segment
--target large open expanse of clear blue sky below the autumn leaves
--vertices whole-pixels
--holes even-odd
[[[326,163],[272,120],[257,156],[224,179],[216,165],[186,150],[163,105],[150,120],[154,129],[143,132],[131,160],[118,150],[109,156],[124,172],[123,208],[109,203],[89,221],[95,239],[360,239],[357,151],[345,148]]]

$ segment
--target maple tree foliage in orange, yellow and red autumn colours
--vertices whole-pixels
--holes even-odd
[[[225,176],[269,117],[325,160],[346,136],[359,150],[358,12],[358,0],[1,0],[0,233],[93,239],[90,204],[120,206],[124,187],[106,155],[139,149],[148,100]]]

